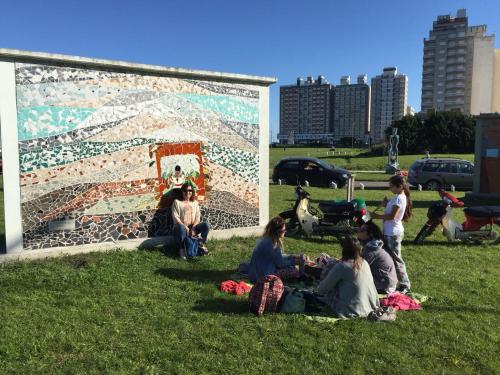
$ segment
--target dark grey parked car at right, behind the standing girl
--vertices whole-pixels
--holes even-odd
[[[467,160],[429,158],[415,161],[408,173],[408,182],[422,185],[428,190],[448,188],[454,185],[457,189],[472,189],[474,180],[474,164]]]

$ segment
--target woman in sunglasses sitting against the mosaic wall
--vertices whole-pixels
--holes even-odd
[[[195,237],[201,235],[201,245],[199,249],[203,255],[208,254],[205,246],[207,242],[208,231],[210,227],[208,223],[201,222],[200,206],[196,201],[195,191],[193,186],[186,182],[181,187],[182,198],[176,199],[172,204],[172,219],[174,221],[174,237],[180,246],[181,258],[186,257],[187,237]]]

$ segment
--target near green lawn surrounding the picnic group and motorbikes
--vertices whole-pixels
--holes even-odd
[[[345,190],[310,188],[314,199]],[[271,186],[271,214],[293,187]],[[356,191],[374,206],[384,191]],[[415,192],[412,240],[436,193]],[[314,203],[313,203],[314,204]],[[431,299],[394,323],[334,325],[247,312],[217,285],[255,239],[212,241],[188,263],[160,251],[112,252],[0,265],[0,373],[457,373],[500,369],[499,248],[404,243],[413,289]],[[287,239],[287,251],[339,255],[331,238]]]

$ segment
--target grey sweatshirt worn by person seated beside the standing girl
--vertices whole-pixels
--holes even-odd
[[[378,291],[391,293],[396,290],[398,276],[394,260],[384,250],[382,240],[371,240],[363,247],[363,258],[370,265],[373,281]]]

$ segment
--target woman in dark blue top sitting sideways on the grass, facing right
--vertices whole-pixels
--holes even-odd
[[[285,233],[285,222],[279,216],[272,218],[266,225],[264,235],[257,242],[248,266],[250,281],[255,283],[267,275],[277,275],[286,280],[303,274],[306,257],[284,255],[282,252]]]

